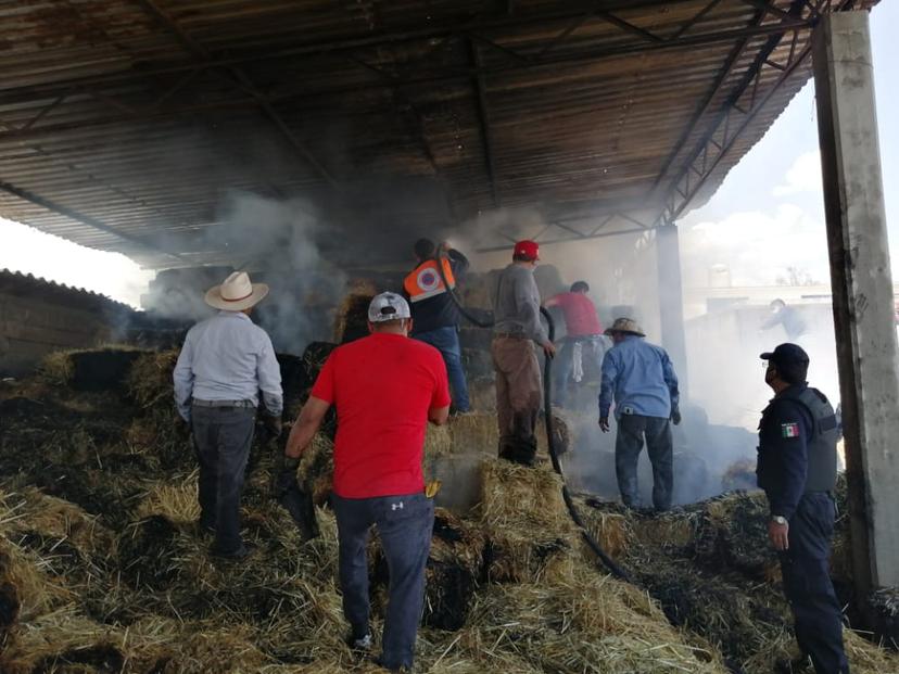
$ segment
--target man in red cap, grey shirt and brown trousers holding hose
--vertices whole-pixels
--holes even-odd
[[[547,357],[556,353],[540,321],[540,292],[534,268],[540,259],[535,241],[515,244],[512,263],[499,275],[494,306],[493,367],[496,371],[496,414],[499,456],[531,466],[536,455],[541,404],[540,365],[534,343]]]

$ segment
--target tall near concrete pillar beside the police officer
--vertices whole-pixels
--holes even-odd
[[[814,85],[846,438],[853,572],[899,585],[899,357],[866,12],[825,14]],[[814,363],[809,377],[814,382]]]

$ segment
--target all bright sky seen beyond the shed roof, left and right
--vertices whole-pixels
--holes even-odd
[[[881,160],[890,251],[899,254],[899,1],[871,15]],[[680,222],[684,285],[704,287],[711,265],[734,285],[771,285],[788,267],[826,283],[827,269],[814,87],[809,82],[702,208]],[[0,268],[103,293],[132,306],[154,272],[127,257],[93,251],[0,218]],[[894,265],[896,267],[896,265]],[[894,274],[899,279],[899,272]]]

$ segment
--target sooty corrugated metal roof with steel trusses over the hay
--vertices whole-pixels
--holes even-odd
[[[808,80],[818,13],[871,4],[3,0],[0,215],[155,267],[240,262],[202,236],[233,190],[309,200],[335,258],[498,207],[651,226]]]

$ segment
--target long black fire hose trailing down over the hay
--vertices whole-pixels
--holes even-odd
[[[441,254],[439,254],[435,259],[438,274],[440,275],[440,279],[443,282],[444,288],[446,288],[446,291],[450,294],[453,304],[455,304],[456,308],[459,310],[459,314],[461,314],[467,320],[478,326],[479,328],[492,328],[493,321],[481,320],[472,316],[463,306],[461,302],[456,295],[455,289],[446,282],[446,276],[443,271],[443,259],[444,258]],[[556,323],[553,320],[553,317],[549,315],[549,311],[547,311],[544,307],[540,307],[540,313],[546,319],[549,341],[552,342],[553,339],[556,336]],[[609,557],[606,554],[606,551],[603,549],[603,546],[600,546],[596,538],[594,538],[590,531],[587,531],[587,527],[584,525],[583,519],[581,519],[581,514],[578,512],[578,507],[574,504],[574,499],[571,496],[571,492],[568,489],[568,484],[565,480],[565,472],[562,471],[561,462],[559,461],[559,456],[556,447],[555,420],[553,418],[552,407],[552,373],[553,358],[552,356],[547,355],[543,365],[543,418],[544,425],[546,428],[546,446],[549,449],[549,459],[553,462],[553,470],[555,470],[556,473],[558,473],[559,478],[561,478],[562,499],[565,500],[566,508],[568,508],[568,514],[571,517],[571,520],[581,531],[581,536],[583,537],[584,543],[586,543],[587,547],[593,551],[594,555],[596,555],[596,558],[603,563],[603,565],[609,571],[609,573],[611,573],[613,576],[618,578],[621,578],[622,581],[630,582],[631,578],[628,575],[628,573],[621,567],[619,567],[611,557]]]

